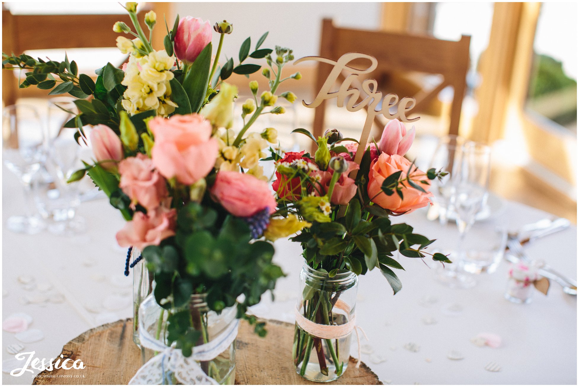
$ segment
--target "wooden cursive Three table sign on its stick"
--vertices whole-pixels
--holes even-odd
[[[367,59],[370,61],[370,65],[365,69],[357,69],[349,66],[351,61],[357,59]],[[393,120],[398,118],[402,122],[415,122],[420,119],[420,117],[413,119],[406,117],[406,113],[412,110],[412,108],[414,108],[416,105],[416,99],[412,97],[404,97],[400,99],[399,102],[398,95],[394,93],[387,94],[382,101],[381,108],[376,110],[376,106],[378,106],[380,100],[382,100],[382,92],[378,91],[378,83],[376,83],[376,80],[372,78],[366,79],[362,82],[362,91],[364,91],[367,97],[358,102],[358,99],[360,99],[361,91],[355,87],[350,87],[351,83],[358,76],[371,73],[376,69],[376,67],[378,67],[378,60],[376,60],[375,57],[362,53],[347,53],[343,54],[338,61],[312,56],[299,58],[294,63],[298,64],[304,61],[317,61],[334,66],[332,71],[329,73],[328,78],[325,80],[324,85],[321,87],[320,91],[318,91],[316,98],[310,104],[307,104],[306,101],[302,100],[302,104],[304,106],[313,109],[320,106],[325,99],[337,98],[336,104],[338,105],[338,108],[343,108],[346,97],[350,97],[346,103],[346,109],[349,112],[357,112],[365,106],[368,106],[368,114],[364,122],[364,128],[362,128],[360,142],[356,150],[356,157],[354,157],[355,163],[360,164],[362,161],[362,156],[364,156],[364,151],[366,150],[366,145],[368,144],[368,137],[370,136],[372,122],[375,116],[381,114],[386,117],[386,119]],[[342,73],[342,71],[349,72],[350,74],[346,76],[346,79],[344,82],[342,82],[338,91],[330,91],[336,80],[338,80],[338,76],[340,73]],[[390,109],[394,106],[397,106],[396,111],[394,113],[390,113]],[[352,171],[350,173],[350,177],[353,179],[356,178],[357,173],[357,170]]]

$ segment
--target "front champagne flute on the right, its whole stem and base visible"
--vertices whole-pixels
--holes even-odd
[[[466,260],[463,242],[475,222],[477,213],[486,204],[490,179],[490,147],[479,142],[467,142],[461,148],[460,162],[455,164],[452,177],[450,207],[456,216],[459,242],[452,254],[453,264],[442,270],[439,279],[451,288],[471,288],[476,281],[464,271]]]

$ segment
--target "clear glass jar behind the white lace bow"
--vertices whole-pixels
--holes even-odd
[[[237,305],[225,308],[218,314],[207,307],[206,294],[193,294],[189,304],[184,307],[163,309],[156,303],[153,294],[151,294],[141,303],[139,309],[140,319],[142,320],[140,321],[140,329],[145,329],[149,340],[155,341],[156,351],[146,348],[148,345],[146,341],[143,342],[142,345],[145,347],[142,349],[144,353],[143,364],[162,350],[164,351],[170,347],[171,343],[167,342],[167,318],[184,310],[190,313],[191,326],[200,332],[199,340],[195,343],[195,346],[210,343],[215,341],[214,339],[216,338],[218,339],[217,341],[221,341],[220,338],[223,335],[236,334],[237,332],[237,330],[233,331],[238,323],[236,319]],[[195,363],[199,364],[203,373],[214,379],[218,384],[226,385],[234,384],[235,382],[236,341],[236,338],[234,338],[229,345],[225,341],[226,348],[223,348],[221,353],[218,353],[210,360],[195,360]],[[193,351],[195,354],[195,347],[193,347]],[[194,354],[192,356],[195,356]],[[170,384],[181,384],[173,371],[166,368],[164,372],[166,373],[166,380],[162,384],[168,384],[167,380],[171,381]]]

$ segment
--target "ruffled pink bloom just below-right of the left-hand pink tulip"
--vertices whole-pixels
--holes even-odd
[[[127,157],[119,163],[119,187],[133,201],[147,210],[159,207],[168,196],[165,179],[155,171],[153,161],[144,154]]]

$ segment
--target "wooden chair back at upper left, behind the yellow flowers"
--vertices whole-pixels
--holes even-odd
[[[167,3],[146,3],[138,15],[141,27],[148,31],[143,14],[154,6],[157,13],[154,36],[160,39],[160,43],[153,41],[156,49],[163,47],[163,13],[168,13],[165,4]],[[2,4],[2,52],[19,55],[25,50],[115,47],[116,37],[124,34],[114,32],[113,24],[124,21],[127,25],[133,25],[129,15],[126,12],[121,13],[123,9],[120,5],[119,9],[118,14],[12,14]],[[16,77],[8,70],[2,75],[2,99],[5,106],[13,105],[17,98],[23,97],[24,90],[19,90]],[[44,90],[42,92],[39,95],[46,95]]]

